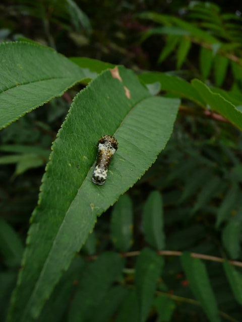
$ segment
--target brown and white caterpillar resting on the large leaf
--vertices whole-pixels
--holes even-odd
[[[117,140],[110,135],[104,135],[99,139],[97,160],[92,175],[94,184],[104,185],[107,178],[107,169],[113,154],[117,150],[117,144]]]

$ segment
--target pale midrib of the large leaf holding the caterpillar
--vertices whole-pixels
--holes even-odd
[[[139,100],[139,101],[138,101],[138,102],[137,102],[137,103],[136,103],[136,104],[135,104],[135,105],[134,105],[134,106],[129,110],[129,112],[126,114],[126,116],[124,117],[124,119],[120,122],[119,126],[118,126],[118,127],[117,127],[117,129],[115,130],[115,132],[114,132],[113,136],[115,135],[115,133],[117,132],[117,130],[122,126],[122,124],[124,123],[124,121],[126,120],[126,118],[129,116],[129,114],[133,111],[133,109],[134,109],[138,104],[140,104],[142,101],[147,100],[147,99],[149,99],[149,98],[151,98],[151,97],[152,97],[152,96],[150,96],[150,95],[149,95],[149,96],[147,96],[147,97],[145,97],[145,98],[142,98],[141,100]],[[52,154],[52,153],[51,153],[51,154]],[[51,159],[51,155],[50,155],[50,159]],[[82,182],[82,184],[81,184],[80,188],[78,189],[78,191],[77,191],[77,193],[76,193],[75,198],[73,198],[72,202],[70,203],[70,205],[69,205],[69,207],[68,207],[68,210],[66,211],[65,217],[64,217],[64,219],[63,219],[63,221],[62,221],[61,225],[60,225],[60,226],[59,226],[59,228],[58,228],[58,231],[57,231],[57,233],[56,233],[56,235],[55,235],[55,238],[53,239],[52,246],[51,246],[51,248],[49,249],[49,252],[48,252],[47,258],[46,258],[46,260],[45,260],[45,262],[44,262],[44,264],[43,264],[43,267],[42,267],[42,269],[41,269],[41,272],[40,272],[40,274],[39,274],[39,277],[38,277],[38,279],[37,279],[37,281],[36,281],[36,283],[35,283],[35,287],[34,287],[34,289],[33,289],[33,292],[31,293],[31,296],[29,297],[28,303],[27,303],[27,305],[25,306],[23,318],[25,317],[26,313],[28,312],[27,308],[28,308],[28,306],[29,306],[29,305],[30,305],[30,303],[31,303],[31,299],[32,299],[32,298],[33,298],[33,296],[34,296],[34,293],[36,292],[36,289],[37,289],[37,286],[38,286],[38,284],[39,284],[40,278],[41,278],[41,276],[43,275],[43,272],[44,272],[44,270],[45,270],[45,267],[46,267],[46,265],[47,265],[47,263],[48,263],[48,261],[49,261],[50,254],[52,253],[52,249],[53,249],[53,246],[54,246],[54,244],[55,244],[55,241],[56,241],[56,239],[57,239],[57,237],[58,237],[59,232],[62,230],[62,226],[63,226],[63,223],[65,222],[65,218],[66,218],[66,216],[67,216],[67,213],[68,213],[69,209],[71,208],[71,206],[72,206],[72,204],[73,204],[74,200],[76,199],[76,197],[77,197],[77,195],[78,195],[79,191],[82,189],[82,186],[84,185],[84,183],[86,182],[87,178],[89,177],[89,173],[90,173],[90,171],[92,171],[94,164],[95,164],[95,161],[94,161],[94,163],[92,164],[92,166],[90,167],[90,169],[89,169],[89,171],[88,171],[88,173],[87,173],[87,175],[86,175],[86,178],[83,180],[83,182]],[[23,320],[23,318],[22,318],[22,320]]]

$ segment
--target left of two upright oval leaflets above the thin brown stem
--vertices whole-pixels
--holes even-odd
[[[111,213],[111,239],[114,247],[127,252],[132,245],[133,206],[129,195],[121,196],[115,203]]]

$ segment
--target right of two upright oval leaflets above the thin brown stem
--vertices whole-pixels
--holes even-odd
[[[142,216],[145,239],[150,246],[157,250],[165,248],[163,230],[163,206],[159,191],[153,191],[144,206]]]

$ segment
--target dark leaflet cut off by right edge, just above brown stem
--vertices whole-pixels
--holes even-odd
[[[222,230],[223,245],[231,259],[237,259],[240,254],[241,222],[231,220]]]

